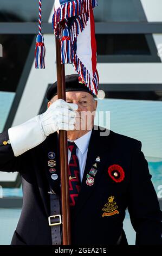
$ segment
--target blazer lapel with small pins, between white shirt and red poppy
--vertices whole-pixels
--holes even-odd
[[[75,205],[74,216],[77,212],[82,208],[83,204],[86,203],[90,195],[93,193],[95,187],[98,185],[98,182],[101,178],[102,172],[104,170],[104,165],[106,164],[106,159],[103,159],[103,153],[111,149],[111,141],[112,141],[112,133],[110,131],[107,138],[100,136],[100,130],[92,130],[92,135],[89,141],[88,153],[87,153],[87,161],[86,167],[83,174],[83,179],[81,182],[81,190],[79,193],[79,197],[77,199]],[[103,132],[103,131],[102,131]],[[96,157],[100,157],[100,162],[96,161]],[[105,156],[107,158],[107,154]],[[89,173],[90,169],[93,168],[93,164],[96,163],[98,172],[94,177],[94,184],[92,186],[88,186],[86,184],[87,174]],[[95,167],[94,167],[95,168]]]

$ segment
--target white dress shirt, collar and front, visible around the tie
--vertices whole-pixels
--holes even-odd
[[[79,167],[80,167],[80,180],[82,181],[83,179],[83,174],[86,166],[86,160],[87,160],[87,152],[88,152],[88,145],[89,145],[89,140],[91,136],[92,130],[87,132],[85,135],[82,137],[75,139],[75,144],[77,145],[76,148],[76,156],[79,160]],[[70,141],[68,139],[68,141]],[[71,157],[71,152],[68,149],[68,163],[70,161]]]

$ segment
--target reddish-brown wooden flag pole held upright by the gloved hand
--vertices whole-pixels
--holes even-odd
[[[64,64],[61,64],[61,46],[56,39],[57,95],[66,100]],[[69,211],[69,175],[67,155],[67,131],[59,131],[60,172],[61,172],[61,204],[62,204],[62,244],[70,245],[70,211]]]

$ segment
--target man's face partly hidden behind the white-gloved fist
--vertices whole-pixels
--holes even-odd
[[[57,100],[57,95],[52,102]],[[91,130],[94,125],[95,110],[97,101],[87,92],[66,92],[66,101],[75,103],[78,106],[76,111],[75,131]],[[48,103],[50,105],[50,103]],[[49,106],[48,106],[49,107]]]

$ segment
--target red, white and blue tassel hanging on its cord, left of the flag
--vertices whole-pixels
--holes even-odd
[[[35,68],[44,69],[45,68],[45,54],[46,49],[44,46],[44,38],[42,35],[42,0],[39,0],[39,33],[36,38],[35,46]]]

